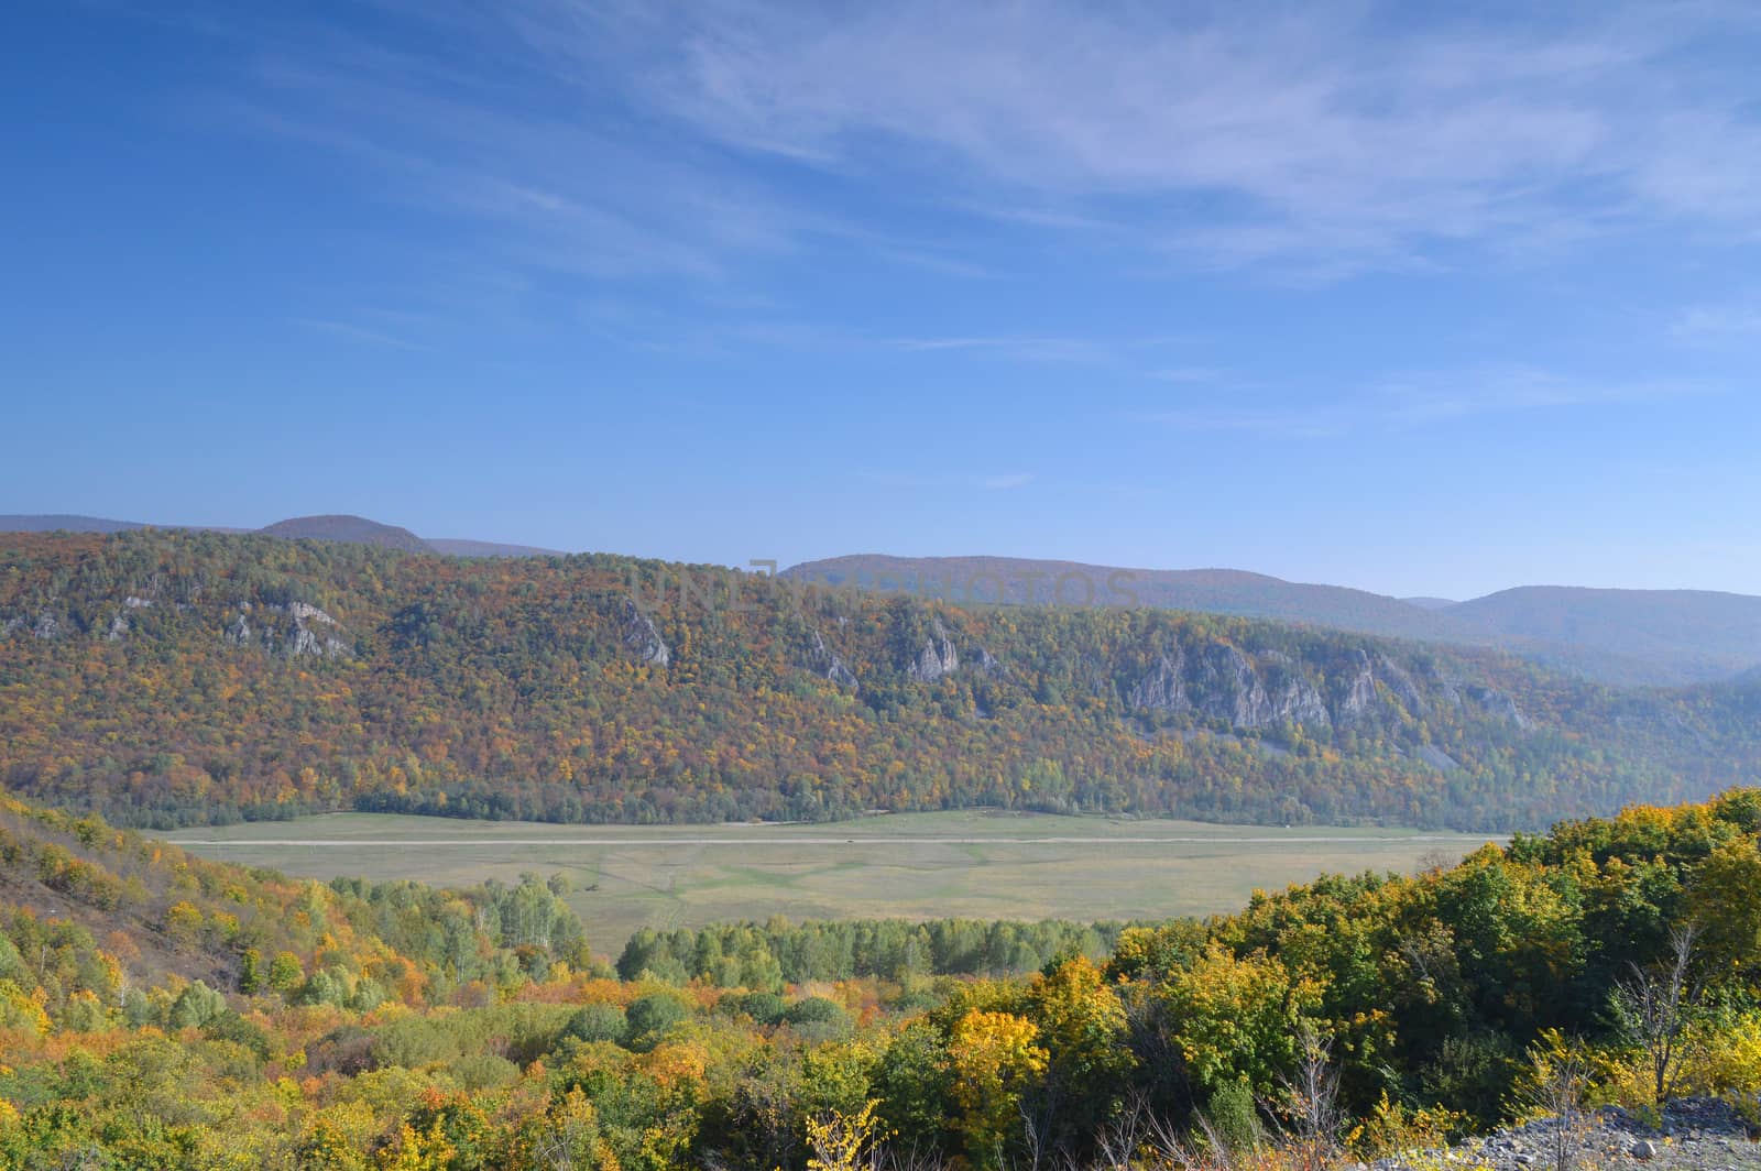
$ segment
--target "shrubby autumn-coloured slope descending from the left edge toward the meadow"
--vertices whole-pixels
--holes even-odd
[[[0,983],[41,988],[58,1023],[116,1004],[150,1011],[141,990],[174,993],[187,981],[266,991],[276,956],[289,993],[308,974],[326,984],[317,974],[328,972],[357,1007],[421,1002],[519,970],[514,947],[532,940],[504,930],[504,917],[527,933],[542,926],[542,954],[530,960],[541,972],[551,958],[586,956],[581,923],[542,884],[322,886],[0,792]]]

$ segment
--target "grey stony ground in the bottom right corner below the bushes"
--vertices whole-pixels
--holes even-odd
[[[1558,1122],[1543,1118],[1469,1139],[1432,1155],[1430,1166],[1493,1171],[1553,1171],[1558,1166]],[[1687,1099],[1671,1102],[1661,1127],[1610,1106],[1585,1113],[1569,1132],[1571,1166],[1578,1171],[1761,1171],[1761,1132],[1729,1102]],[[1384,1159],[1374,1171],[1405,1171],[1414,1160]]]

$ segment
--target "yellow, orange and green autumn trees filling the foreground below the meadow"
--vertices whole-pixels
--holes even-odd
[[[581,967],[537,879],[292,884],[7,812],[0,1167],[854,1171],[891,1148],[925,1169],[1314,1169],[1541,1101],[1726,1095],[1761,1123],[1756,789],[1564,822],[1416,877],[1326,877],[1205,923],[743,924],[646,937],[623,956],[632,979]],[[285,935],[261,940],[317,932],[313,951],[225,986],[148,977],[127,947],[151,932],[102,886],[65,895],[85,923],[12,902],[56,889],[26,840],[81,833],[113,873],[139,858],[143,887],[167,879],[204,919],[215,898],[278,909]],[[1081,954],[1097,937],[1111,946]],[[1000,979],[824,979],[910,940],[977,970],[1051,954]],[[201,932],[169,953],[213,949],[238,954]],[[717,988],[717,951],[770,961]],[[778,983],[785,963],[812,979]],[[1338,1115],[1307,1109],[1303,1086]]]

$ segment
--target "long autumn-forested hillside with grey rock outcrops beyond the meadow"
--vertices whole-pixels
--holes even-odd
[[[1756,777],[1761,689],[615,556],[0,537],[0,777],[171,826],[1002,805],[1502,829]]]

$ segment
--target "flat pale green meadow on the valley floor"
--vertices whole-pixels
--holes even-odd
[[[565,873],[595,951],[726,919],[1146,919],[1240,907],[1324,872],[1411,873],[1488,838],[967,810],[831,824],[553,826],[333,814],[166,835],[194,854],[333,879],[465,886]]]

